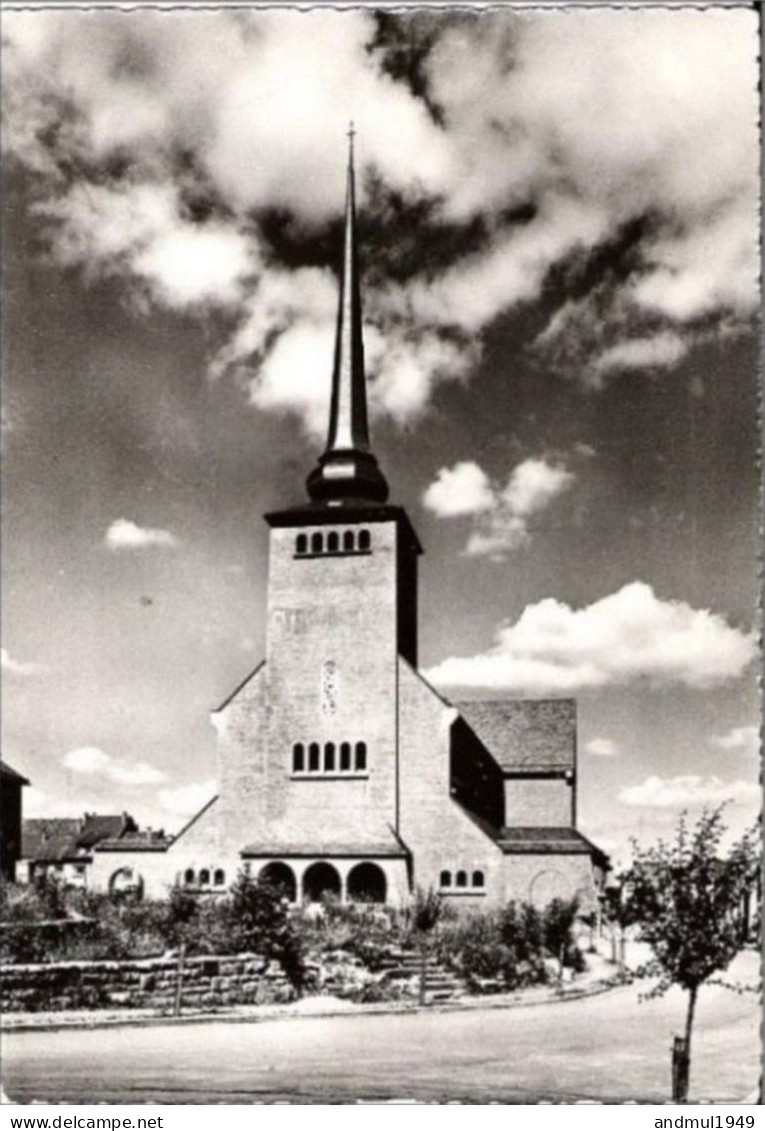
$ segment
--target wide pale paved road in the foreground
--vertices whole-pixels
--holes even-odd
[[[18,1102],[659,1102],[684,1008],[679,992],[638,1002],[620,987],[521,1009],[16,1033],[3,1085]],[[691,1099],[751,1096],[758,1029],[755,994],[702,990]]]

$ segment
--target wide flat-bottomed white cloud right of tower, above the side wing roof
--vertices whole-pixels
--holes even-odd
[[[633,581],[579,610],[551,597],[528,605],[488,651],[448,657],[426,674],[437,687],[531,696],[642,680],[702,690],[737,679],[755,651],[753,633]]]

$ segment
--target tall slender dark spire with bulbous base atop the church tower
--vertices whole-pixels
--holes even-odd
[[[311,499],[326,502],[385,502],[388,484],[372,456],[367,420],[367,378],[362,338],[361,287],[356,250],[353,122],[349,130],[345,245],[337,309],[329,434],[319,466],[308,477]]]

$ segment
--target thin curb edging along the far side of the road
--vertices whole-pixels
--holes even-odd
[[[16,1018],[3,1018],[0,1021],[0,1029],[3,1034],[10,1033],[54,1033],[65,1029],[111,1029],[123,1028],[148,1028],[161,1025],[203,1025],[205,1022],[222,1021],[227,1025],[257,1025],[264,1021],[299,1021],[338,1017],[364,1017],[364,1016],[390,1016],[405,1013],[458,1013],[471,1010],[497,1010],[497,1009],[527,1009],[530,1005],[559,1005],[571,1001],[582,1001],[585,998],[595,998],[600,994],[618,990],[625,982],[608,979],[596,982],[582,988],[564,990],[560,993],[547,993],[544,996],[523,996],[522,993],[514,998],[502,998],[500,1001],[492,1000],[491,995],[485,998],[457,999],[456,1001],[438,1002],[432,1005],[420,1005],[416,1002],[375,1002],[369,1004],[356,1004],[351,1009],[317,1010],[317,1012],[300,1012],[291,1005],[284,1007],[253,1007],[258,1012],[252,1013],[226,1013],[226,1012],[197,1012],[181,1013],[180,1017],[172,1015],[149,1015],[149,1016],[108,1016],[98,1017],[97,1012],[81,1012],[78,1016],[61,1018],[55,1020],[52,1015],[48,1015],[44,1020],[35,1021],[34,1013],[22,1015]]]

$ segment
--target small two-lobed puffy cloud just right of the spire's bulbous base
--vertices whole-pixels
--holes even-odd
[[[545,510],[575,481],[571,472],[543,458],[525,459],[505,487],[492,484],[473,460],[442,467],[424,491],[422,504],[439,518],[476,517],[465,553],[501,561],[528,542],[528,519]]]

